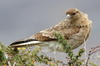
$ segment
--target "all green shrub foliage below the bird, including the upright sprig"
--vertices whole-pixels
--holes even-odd
[[[49,66],[59,66],[59,64],[61,66],[97,66],[93,62],[89,62],[90,55],[88,56],[87,64],[84,63],[85,59],[81,58],[84,53],[84,48],[81,48],[77,54],[74,54],[71,50],[71,45],[67,44],[67,40],[61,34],[55,33],[55,36],[63,46],[63,49],[65,49],[66,59],[68,60],[66,64],[45,56],[41,52],[40,46],[35,46],[31,49],[29,47],[12,48],[0,43],[0,66],[38,66],[36,63],[43,63]]]

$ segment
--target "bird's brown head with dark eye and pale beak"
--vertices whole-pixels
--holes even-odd
[[[77,20],[82,16],[82,12],[76,8],[71,8],[66,11],[66,16],[68,19]]]

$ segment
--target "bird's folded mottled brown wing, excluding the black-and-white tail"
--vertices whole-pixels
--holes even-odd
[[[79,30],[80,30],[80,27],[72,26],[69,21],[62,21],[56,26],[40,31],[36,33],[35,35],[31,36],[30,38],[31,39],[34,38],[39,41],[51,41],[51,40],[56,39],[55,32],[59,32],[66,39],[69,39],[70,36],[78,33]]]

